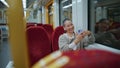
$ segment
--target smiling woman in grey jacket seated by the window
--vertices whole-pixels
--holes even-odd
[[[71,51],[84,49],[95,42],[95,38],[90,31],[83,31],[81,34],[74,32],[74,25],[70,19],[63,21],[63,27],[66,33],[59,37],[59,50]]]

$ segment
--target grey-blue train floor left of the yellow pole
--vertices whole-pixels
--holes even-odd
[[[1,40],[0,40],[1,41]],[[0,43],[0,68],[6,68],[9,61],[11,61],[11,53],[8,39],[4,39]]]

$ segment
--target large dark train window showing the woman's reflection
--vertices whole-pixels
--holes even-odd
[[[120,1],[91,0],[90,29],[95,30],[96,43],[120,49]]]

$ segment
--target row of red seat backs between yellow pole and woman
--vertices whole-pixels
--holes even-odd
[[[59,49],[58,38],[64,33],[62,26],[53,29],[49,24],[27,24],[27,44],[32,66],[44,56]]]

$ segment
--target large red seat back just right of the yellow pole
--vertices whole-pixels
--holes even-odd
[[[51,45],[47,32],[43,27],[29,27],[27,29],[28,52],[30,65],[51,53]]]

